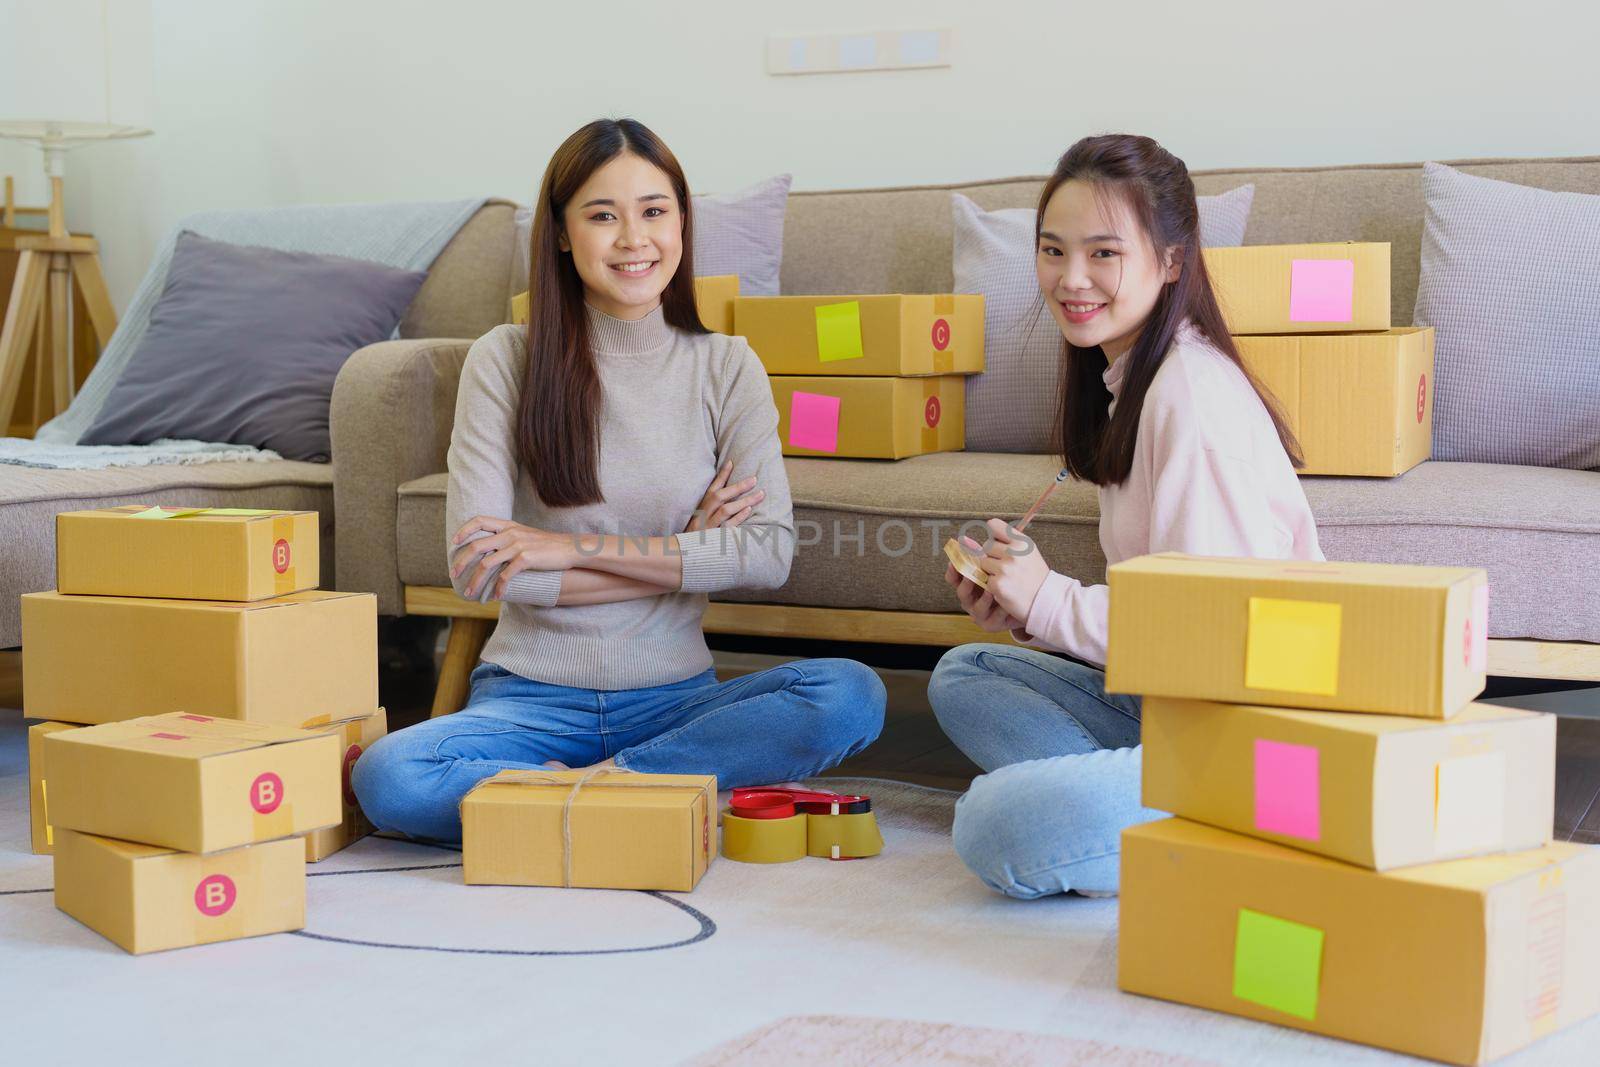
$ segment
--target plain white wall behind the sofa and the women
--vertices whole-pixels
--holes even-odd
[[[1600,152],[1589,2],[984,6],[154,0],[155,136],[72,157],[69,224],[104,240],[122,307],[190,211],[526,200],[597,115],[653,126],[701,192],[786,170],[797,189],[1040,173],[1107,130],[1197,170]],[[944,70],[763,69],[770,34],[942,26]],[[0,150],[0,166],[32,179],[37,154]]]

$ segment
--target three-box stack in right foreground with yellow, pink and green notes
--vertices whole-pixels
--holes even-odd
[[[1458,1064],[1600,1009],[1600,851],[1550,843],[1555,720],[1475,704],[1469,568],[1115,565],[1144,696],[1118,984]],[[1309,709],[1309,710],[1307,710]]]

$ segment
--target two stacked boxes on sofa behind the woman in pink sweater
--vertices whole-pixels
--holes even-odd
[[[1387,243],[1206,248],[1205,264],[1301,474],[1394,477],[1429,458],[1434,331],[1390,330]]]

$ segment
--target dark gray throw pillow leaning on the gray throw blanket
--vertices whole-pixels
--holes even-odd
[[[394,333],[426,278],[184,230],[150,326],[78,443],[176,437],[326,462],[333,379]]]

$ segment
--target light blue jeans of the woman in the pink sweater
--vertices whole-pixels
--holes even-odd
[[[1112,894],[1122,832],[1162,817],[1139,805],[1139,697],[1106,675],[1032,648],[962,645],[928,701],[987,774],[955,805],[955,851],[1006,896]]]

